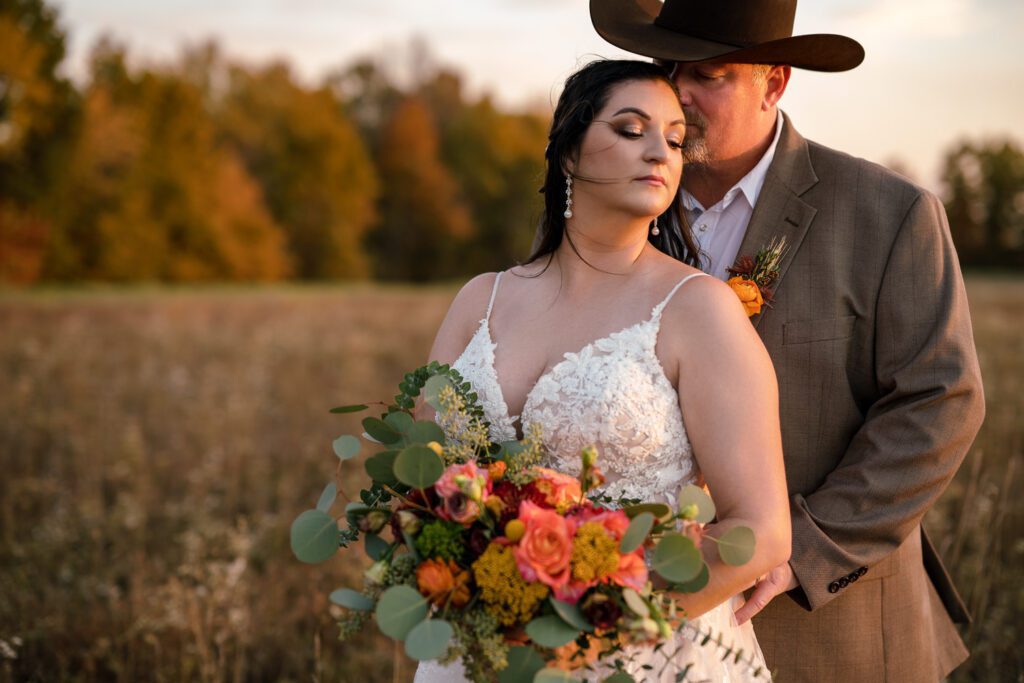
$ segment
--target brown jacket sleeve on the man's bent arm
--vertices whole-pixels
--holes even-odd
[[[822,484],[792,498],[790,563],[801,589],[791,596],[807,609],[842,594],[918,528],[984,417],[967,293],[931,194],[916,197],[896,232],[873,330],[877,398]]]

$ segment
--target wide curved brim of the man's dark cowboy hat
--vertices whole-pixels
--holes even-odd
[[[835,34],[808,34],[749,47],[703,40],[654,24],[657,0],[590,0],[590,18],[601,38],[629,52],[671,61],[731,61],[790,65],[841,72],[864,60],[857,41]]]

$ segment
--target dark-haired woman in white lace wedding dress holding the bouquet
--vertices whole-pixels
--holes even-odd
[[[709,532],[750,526],[757,550],[730,566],[702,544],[711,582],[679,602],[690,624],[763,666],[751,625],[732,613],[790,555],[777,387],[736,296],[690,265],[696,249],[677,213],[685,132],[678,93],[654,65],[602,60],[571,76],[549,135],[538,245],[525,263],[459,292],[431,357],[472,382],[493,439],[539,424],[548,464],[563,471],[597,445],[606,493],[670,502],[706,483],[718,510]],[[678,637],[669,651],[678,670],[692,664],[687,680],[752,676],[714,642]],[[632,673],[651,680],[663,654],[634,654]],[[458,664],[424,663],[416,675],[462,678]]]

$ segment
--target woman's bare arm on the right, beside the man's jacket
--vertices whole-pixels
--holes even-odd
[[[694,457],[718,513],[708,526],[721,536],[750,526],[754,557],[742,566],[721,561],[706,540],[711,581],[680,596],[690,616],[699,615],[750,587],[790,558],[790,508],[779,432],[778,385],[768,352],[732,291],[700,278],[666,310],[659,344],[675,361],[679,403]]]

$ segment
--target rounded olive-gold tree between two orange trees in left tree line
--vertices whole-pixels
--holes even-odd
[[[330,88],[301,87],[283,63],[234,67],[218,122],[285,229],[296,274],[366,276],[362,239],[375,218],[377,176]]]

